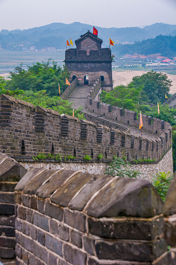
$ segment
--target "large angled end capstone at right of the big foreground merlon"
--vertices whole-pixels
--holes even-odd
[[[144,179],[114,178],[85,208],[93,217],[161,214],[163,202],[153,185]]]

